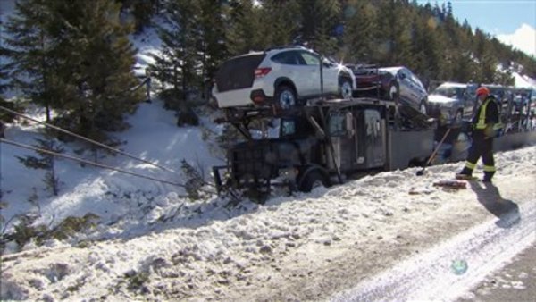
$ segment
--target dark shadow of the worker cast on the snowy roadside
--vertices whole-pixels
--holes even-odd
[[[469,181],[471,189],[476,193],[478,202],[482,204],[498,221],[495,224],[499,228],[508,229],[521,221],[519,206],[512,200],[500,196],[500,192],[493,183]]]

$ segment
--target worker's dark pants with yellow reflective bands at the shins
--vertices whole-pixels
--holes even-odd
[[[471,175],[481,157],[484,164],[484,179],[490,180],[495,174],[493,138],[485,138],[482,131],[476,130],[473,132],[473,144],[469,148],[469,154],[462,173]]]

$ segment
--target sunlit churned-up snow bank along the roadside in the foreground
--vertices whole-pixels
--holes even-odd
[[[535,156],[536,147],[500,153],[496,186],[473,182],[460,191],[431,187],[460,166],[446,164],[421,177],[416,169],[384,172],[264,206],[227,209],[217,198],[189,204],[168,194],[151,213],[170,220],[139,236],[83,247],[51,242],[4,256],[2,298],[329,298],[481,222],[501,227],[507,211],[526,219],[536,200]]]

